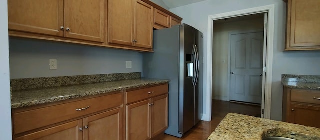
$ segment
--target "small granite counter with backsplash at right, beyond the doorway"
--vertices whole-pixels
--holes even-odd
[[[320,76],[318,75],[282,74],[281,83],[287,88],[320,90]]]

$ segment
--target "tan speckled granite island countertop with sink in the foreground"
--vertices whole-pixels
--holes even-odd
[[[320,140],[320,129],[228,113],[207,140],[262,140],[270,136],[297,140]]]

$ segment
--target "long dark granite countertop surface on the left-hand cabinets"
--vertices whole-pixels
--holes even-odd
[[[12,91],[11,108],[25,107],[167,82],[169,82],[169,80],[138,78]]]

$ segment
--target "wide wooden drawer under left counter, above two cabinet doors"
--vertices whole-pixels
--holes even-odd
[[[122,93],[13,113],[14,134],[84,116],[122,104]]]

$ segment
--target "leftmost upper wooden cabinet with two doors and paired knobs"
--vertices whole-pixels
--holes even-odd
[[[103,42],[104,12],[104,0],[8,0],[9,35]]]

